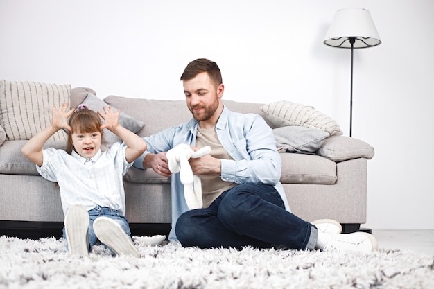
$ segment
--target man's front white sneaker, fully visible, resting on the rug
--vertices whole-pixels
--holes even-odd
[[[371,234],[357,231],[351,234],[330,234],[324,251],[338,249],[339,251],[358,251],[369,253],[378,249],[376,238]]]

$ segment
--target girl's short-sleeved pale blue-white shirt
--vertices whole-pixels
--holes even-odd
[[[105,152],[98,150],[92,159],[75,151],[69,155],[64,150],[46,148],[42,150],[42,166],[36,165],[36,169],[44,179],[58,182],[65,216],[73,204],[83,204],[87,211],[96,205],[109,207],[125,216],[122,177],[132,166],[125,158],[126,148],[125,143],[114,143]]]

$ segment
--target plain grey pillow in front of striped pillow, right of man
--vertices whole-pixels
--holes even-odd
[[[275,134],[277,150],[281,152],[316,152],[330,135],[318,128],[302,126],[282,126],[272,132]]]

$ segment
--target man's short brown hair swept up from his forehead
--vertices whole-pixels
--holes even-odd
[[[211,78],[216,87],[223,83],[222,74],[217,63],[206,58],[198,58],[187,64],[184,73],[182,73],[181,80],[191,80],[202,72],[208,73],[209,78]]]

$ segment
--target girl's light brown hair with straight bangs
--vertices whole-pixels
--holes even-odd
[[[89,110],[87,107],[78,108],[69,118],[69,125],[71,125],[73,132],[80,132],[82,134],[89,132],[100,132],[101,142],[103,142],[103,130],[100,129],[101,118],[93,110]],[[68,133],[67,152],[71,154],[73,150],[72,134]]]

